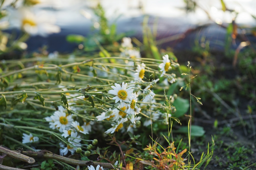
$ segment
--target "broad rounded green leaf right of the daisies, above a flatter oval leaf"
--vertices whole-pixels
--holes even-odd
[[[188,99],[183,99],[180,97],[177,97],[176,100],[173,102],[173,106],[176,107],[176,112],[172,114],[173,117],[179,118],[180,116],[183,116],[190,106]]]

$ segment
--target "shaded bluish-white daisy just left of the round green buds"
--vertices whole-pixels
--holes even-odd
[[[71,154],[74,154],[76,152],[76,149],[82,146],[79,143],[80,141],[81,139],[80,139],[80,136],[77,136],[77,132],[71,132],[70,138],[68,138],[67,147],[64,149],[61,149],[61,153],[63,153],[63,155],[66,155],[68,151],[70,151]]]

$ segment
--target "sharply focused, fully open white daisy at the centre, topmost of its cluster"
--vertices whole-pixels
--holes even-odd
[[[129,98],[132,96],[133,90],[132,87],[126,89],[126,86],[127,83],[124,82],[122,83],[122,86],[117,83],[115,83],[115,86],[111,86],[113,90],[110,90],[109,93],[116,95],[115,97],[113,97],[115,103],[117,103],[118,101],[120,101],[120,103],[122,103],[122,101],[129,101]]]

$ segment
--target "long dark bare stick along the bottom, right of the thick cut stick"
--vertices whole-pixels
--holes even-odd
[[[109,169],[114,169],[115,167],[111,163],[101,163],[101,162],[93,162],[93,161],[81,161],[81,160],[75,160],[75,159],[70,159],[64,156],[56,155],[53,153],[47,153],[49,151],[41,150],[39,152],[32,152],[32,151],[22,151],[24,155],[31,156],[31,157],[44,157],[46,159],[55,159],[58,161],[65,162],[67,164],[72,164],[72,165],[81,165],[81,166],[94,166],[96,167],[97,165],[102,166],[103,168],[109,168]]]

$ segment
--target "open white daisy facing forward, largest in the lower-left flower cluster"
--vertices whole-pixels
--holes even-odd
[[[63,110],[55,111],[51,118],[54,120],[53,125],[56,126],[60,132],[63,132],[63,130],[69,128],[73,121],[72,115],[67,115],[65,112],[63,112]]]

